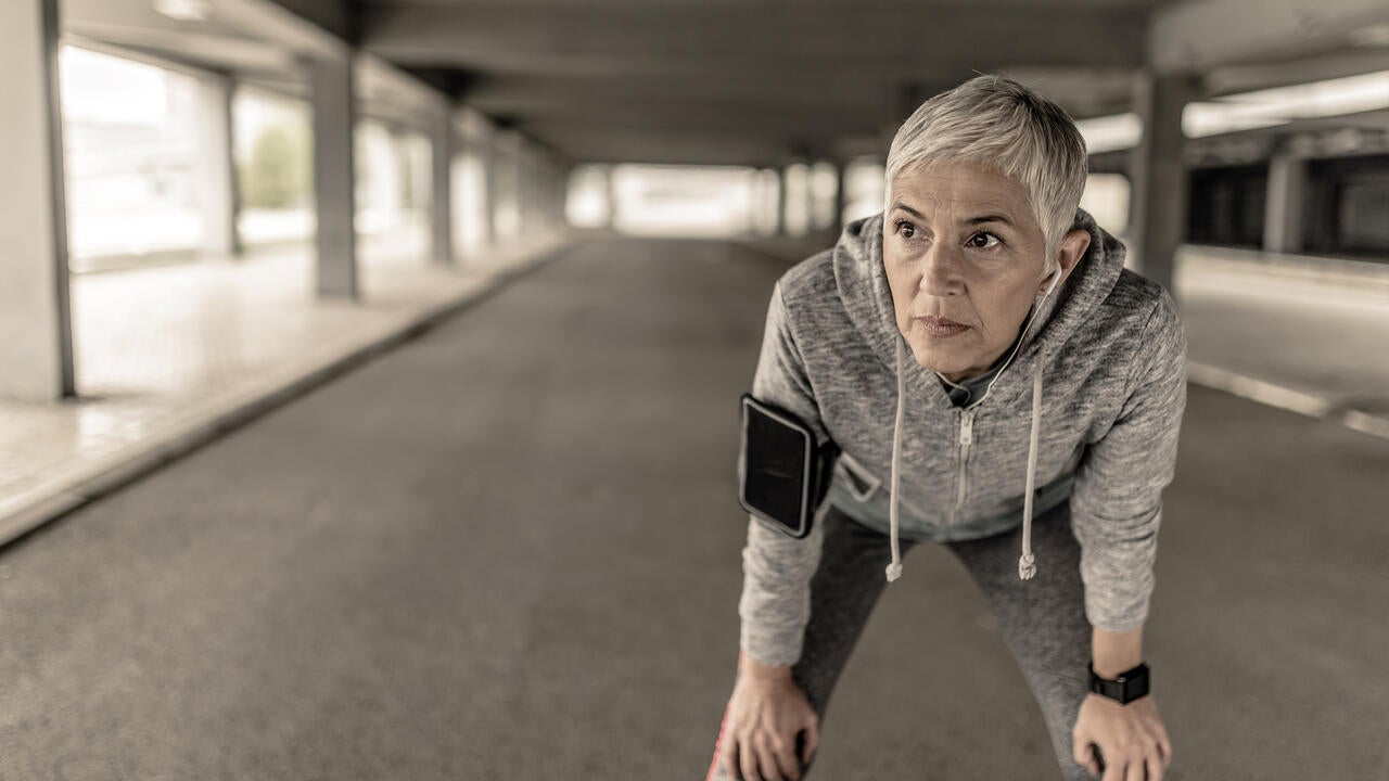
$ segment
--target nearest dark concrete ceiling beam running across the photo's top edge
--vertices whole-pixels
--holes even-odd
[[[397,63],[510,72],[1000,64],[1135,67],[1142,8],[945,6],[913,19],[850,7],[747,4],[364,6],[363,46]]]

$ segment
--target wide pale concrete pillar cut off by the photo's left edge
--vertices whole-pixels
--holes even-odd
[[[76,395],[57,0],[0,3],[0,395]]]

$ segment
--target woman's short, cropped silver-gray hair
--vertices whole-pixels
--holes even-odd
[[[922,103],[888,150],[883,211],[906,168],[976,163],[1020,182],[1046,238],[1046,268],[1075,221],[1089,158],[1085,138],[1060,106],[997,75],[975,76]]]

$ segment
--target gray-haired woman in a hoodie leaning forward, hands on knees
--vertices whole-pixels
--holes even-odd
[[[1171,296],[1079,210],[1086,174],[1060,107],[971,79],[897,132],[883,213],[776,282],[753,396],[840,454],[808,536],[749,521],[710,778],[804,777],[835,681],[921,541],[979,585],[1064,778],[1165,773],[1142,627],[1186,342]]]

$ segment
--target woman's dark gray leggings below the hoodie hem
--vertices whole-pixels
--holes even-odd
[[[824,549],[811,579],[810,623],[792,678],[824,725],[835,682],[886,585],[883,563],[892,554],[886,535],[854,521],[838,507],[824,513],[821,523],[825,524]],[[1046,718],[1061,777],[1092,780],[1095,777],[1075,763],[1071,750],[1071,730],[1089,691],[1086,664],[1090,660],[1090,624],[1085,617],[1081,546],[1071,534],[1071,503],[1063,502],[1032,521],[1032,549],[1039,567],[1031,581],[1018,578],[1021,539],[1022,528],[1018,527],[983,539],[943,545],[964,563],[989,602],[1003,639]],[[915,545],[901,539],[903,557]],[[707,780],[728,781],[718,768],[717,743]]]

